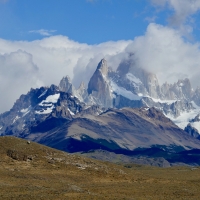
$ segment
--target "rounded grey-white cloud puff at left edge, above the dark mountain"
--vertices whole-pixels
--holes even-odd
[[[0,111],[9,110],[20,94],[41,84],[29,53],[18,50],[0,55]]]

